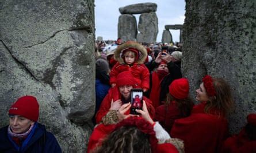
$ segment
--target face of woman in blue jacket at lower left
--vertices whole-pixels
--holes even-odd
[[[34,123],[34,121],[20,115],[10,115],[9,117],[10,128],[15,134],[25,133],[29,130],[30,125],[33,125]]]

